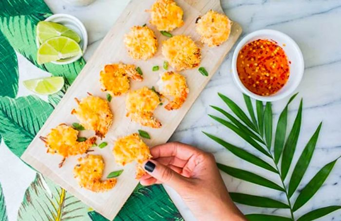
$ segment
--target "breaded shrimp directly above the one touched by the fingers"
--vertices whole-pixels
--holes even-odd
[[[160,128],[160,121],[153,116],[159,104],[158,94],[147,87],[129,92],[126,98],[127,117],[142,126]]]

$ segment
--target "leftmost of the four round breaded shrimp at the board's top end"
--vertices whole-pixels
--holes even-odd
[[[157,39],[154,32],[147,26],[133,26],[124,36],[124,44],[128,54],[134,59],[147,60],[157,51]]]

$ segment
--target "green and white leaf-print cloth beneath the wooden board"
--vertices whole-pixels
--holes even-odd
[[[51,15],[43,0],[0,0],[0,148],[8,148],[8,154],[18,158],[85,65],[83,58],[68,65],[37,63],[36,25]],[[41,77],[36,73],[63,76],[64,88],[48,96],[34,95],[23,87],[22,81]],[[10,158],[0,157],[1,161]],[[19,169],[28,167],[19,160],[6,164]],[[17,185],[16,177],[0,178]],[[4,194],[2,190],[0,185],[1,221],[9,220],[6,212],[9,209],[18,211],[19,221],[107,221],[37,172],[24,194]],[[6,199],[10,198],[20,198],[21,203],[7,204]],[[162,185],[138,185],[114,219],[130,220],[183,221],[183,218]]]

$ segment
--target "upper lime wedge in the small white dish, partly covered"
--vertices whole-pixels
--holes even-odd
[[[77,43],[80,41],[79,35],[65,27],[64,25],[49,22],[49,21],[39,21],[37,25],[37,36],[40,44],[44,43],[47,39],[52,37],[64,36],[74,39]]]

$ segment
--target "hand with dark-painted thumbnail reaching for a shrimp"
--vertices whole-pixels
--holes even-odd
[[[142,185],[169,185],[199,221],[246,220],[229,197],[211,153],[175,142],[152,147],[151,154]]]

